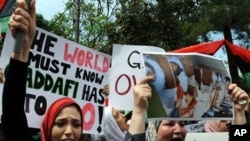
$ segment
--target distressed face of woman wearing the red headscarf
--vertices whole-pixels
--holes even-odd
[[[51,141],[79,141],[82,134],[81,115],[75,106],[63,108],[51,129]]]

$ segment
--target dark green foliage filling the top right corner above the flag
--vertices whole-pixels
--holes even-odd
[[[197,9],[193,12],[196,21],[193,26],[203,35],[211,30],[224,31],[226,27],[249,33],[249,0],[199,0]],[[241,39],[241,38],[238,38]]]

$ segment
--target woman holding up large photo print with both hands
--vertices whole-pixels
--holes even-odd
[[[138,82],[134,89],[134,107],[133,115],[131,118],[131,124],[126,134],[125,141],[145,141],[145,114],[148,108],[148,101],[151,98],[151,87],[148,82],[153,81],[153,76],[147,76]],[[243,125],[246,124],[245,111],[248,104],[248,94],[239,88],[236,84],[230,84],[228,90],[231,94],[231,98],[234,102],[235,118],[232,120],[232,125]],[[239,101],[244,101],[241,103]],[[171,127],[167,129],[167,127]],[[165,132],[160,132],[165,131]],[[167,132],[169,131],[169,132]],[[186,131],[183,130],[180,121],[169,121],[163,120],[157,129],[157,140],[158,141],[185,141]]]

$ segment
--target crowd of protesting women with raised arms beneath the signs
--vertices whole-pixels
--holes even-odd
[[[29,7],[29,10],[27,10]],[[16,9],[9,19],[9,29],[12,36],[20,30],[24,38],[20,52],[13,51],[10,56],[9,68],[6,72],[2,94],[1,129],[5,141],[34,141],[24,112],[26,94],[26,78],[28,70],[29,51],[36,32],[35,0],[27,5],[25,0],[17,0]],[[103,140],[105,141],[185,141],[187,131],[185,121],[160,120],[149,122],[145,115],[148,102],[152,97],[152,88],[149,83],[154,76],[149,75],[138,82],[133,88],[134,105],[130,124],[125,115],[115,107],[105,108],[103,118]],[[236,84],[230,84],[228,90],[234,102],[235,118],[232,121],[218,121],[217,125],[244,125],[246,124],[245,109],[249,103],[248,94]],[[15,97],[13,99],[13,97]],[[239,101],[245,100],[245,103]],[[13,106],[15,103],[15,106]],[[219,126],[221,125],[221,126]],[[155,128],[152,128],[155,127]],[[206,129],[207,130],[207,129]],[[211,130],[212,131],[212,130]],[[215,131],[215,130],[213,130]],[[219,130],[216,130],[217,132]],[[221,131],[226,131],[226,127]],[[18,133],[18,135],[14,135]],[[83,133],[83,114],[80,106],[69,97],[54,101],[47,109],[41,123],[40,137],[42,141],[81,141]]]

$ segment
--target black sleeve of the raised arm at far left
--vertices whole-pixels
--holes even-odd
[[[28,63],[10,59],[2,95],[2,126],[6,141],[34,141],[24,112]]]

